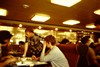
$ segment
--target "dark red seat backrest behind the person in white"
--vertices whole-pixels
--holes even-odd
[[[77,45],[75,44],[60,44],[57,45],[58,48],[64,53],[65,57],[67,58],[70,67],[77,67],[79,54],[77,51]]]

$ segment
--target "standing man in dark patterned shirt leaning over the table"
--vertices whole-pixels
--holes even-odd
[[[32,28],[26,28],[25,35],[26,41],[23,57],[32,57],[32,55],[39,57],[43,48],[40,37],[33,32]]]

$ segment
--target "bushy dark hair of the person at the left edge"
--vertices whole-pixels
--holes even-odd
[[[5,44],[4,40],[10,39],[12,37],[12,34],[10,34],[9,31],[2,30],[0,31],[0,43]]]

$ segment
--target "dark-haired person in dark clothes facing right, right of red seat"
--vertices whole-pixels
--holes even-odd
[[[80,58],[77,67],[100,67],[97,61],[100,57],[95,55],[95,51],[89,47],[90,44],[90,36],[85,36],[81,39],[81,44],[78,46]]]

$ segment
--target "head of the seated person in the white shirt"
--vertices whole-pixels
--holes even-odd
[[[56,38],[53,35],[48,35],[44,38],[44,41],[46,41],[47,48],[50,46],[54,46],[56,44]]]

